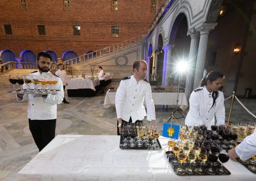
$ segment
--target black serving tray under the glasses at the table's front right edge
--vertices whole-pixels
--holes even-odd
[[[180,168],[180,164],[174,165],[174,164],[171,163],[172,159],[176,159],[176,158],[175,158],[175,157],[169,157],[169,156],[168,156],[168,153],[170,153],[170,152],[171,152],[171,151],[165,152],[165,153],[164,153],[164,156],[166,157],[166,159],[167,159],[167,161],[169,162],[169,164],[172,166],[174,173],[175,173],[176,175],[179,175],[175,170],[177,170],[177,168]],[[217,161],[217,164],[218,164],[217,166],[212,165],[212,170],[215,172],[215,175],[222,175],[222,174],[220,174],[220,173],[218,173],[218,172],[216,171],[217,168],[220,168],[220,167],[221,167],[221,163],[220,163],[219,161]],[[183,163],[183,164],[182,164],[182,169],[183,169],[183,170],[185,170],[185,169],[188,168],[188,167],[189,167],[189,163],[187,163],[187,164],[184,164],[184,163]],[[206,169],[206,168],[209,168],[209,167],[210,167],[210,164],[207,164],[206,166],[205,166],[205,165],[202,165],[202,170],[205,171],[205,169]],[[191,168],[194,170],[194,173],[193,173],[193,174],[189,174],[189,173],[187,173],[187,172],[185,171],[185,174],[184,174],[184,175],[179,175],[179,176],[205,176],[205,175],[215,176],[215,175],[211,175],[211,174],[207,173],[206,171],[205,171],[205,173],[204,173],[203,175],[200,175],[200,174],[196,173],[196,172],[195,172],[195,169],[196,169],[196,168],[200,168],[200,163],[198,163],[197,166],[194,166],[193,164],[191,164]],[[225,168],[225,166],[223,166],[223,170],[225,171],[225,175],[230,175],[230,174],[231,174],[230,171],[228,171],[227,168]]]

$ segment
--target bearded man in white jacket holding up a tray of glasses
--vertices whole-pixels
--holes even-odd
[[[40,52],[37,55],[36,65],[39,71],[30,75],[56,76],[50,72],[51,55]],[[57,105],[64,97],[61,79],[56,76],[58,82],[56,89],[60,90],[55,94],[17,94],[17,101],[28,99],[29,130],[35,140],[36,146],[41,151],[55,136]]]

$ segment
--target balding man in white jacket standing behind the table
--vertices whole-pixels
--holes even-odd
[[[122,78],[116,91],[115,106],[117,115],[117,134],[122,134],[124,122],[137,124],[142,122],[145,115],[147,120],[156,125],[156,112],[150,84],[145,80],[147,62],[135,61],[133,75]],[[146,101],[147,113],[143,105]]]

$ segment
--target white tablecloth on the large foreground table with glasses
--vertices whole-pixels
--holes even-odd
[[[159,139],[167,150],[167,140]],[[240,163],[228,161],[227,176],[175,175],[164,149],[121,150],[119,136],[58,135],[17,174],[17,180],[255,180]]]

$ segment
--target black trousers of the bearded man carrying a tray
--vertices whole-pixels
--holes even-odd
[[[55,137],[56,119],[31,120],[29,130],[35,140],[36,146],[41,151]]]

